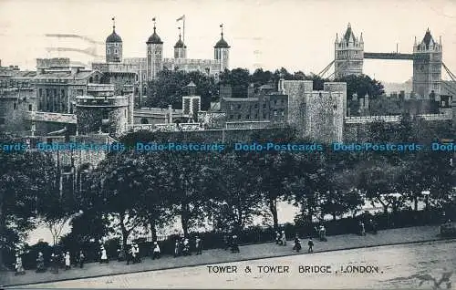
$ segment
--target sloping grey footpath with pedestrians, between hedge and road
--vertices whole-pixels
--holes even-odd
[[[327,242],[314,240],[314,254],[318,252],[330,252],[349,250],[356,248],[375,247],[381,245],[401,243],[422,243],[443,240],[439,236],[439,226],[419,226],[401,229],[378,231],[378,234],[368,233],[366,236],[356,234],[341,234],[328,236]],[[302,240],[303,251],[306,254],[307,240]],[[0,272],[0,287],[13,285],[31,285],[46,282],[83,279],[113,274],[129,274],[135,272],[166,270],[186,266],[203,264],[222,264],[229,262],[273,258],[296,254],[293,250],[293,241],[288,241],[286,246],[275,243],[258,243],[240,246],[241,253],[232,254],[223,249],[211,249],[203,251],[200,255],[177,257],[163,255],[159,260],[151,260],[150,257],[142,259],[140,264],[127,265],[126,262],[110,261],[109,264],[89,263],[80,269],[72,266],[70,270],[60,269],[58,274],[36,273],[35,270],[26,270],[24,275],[15,275],[14,272]]]

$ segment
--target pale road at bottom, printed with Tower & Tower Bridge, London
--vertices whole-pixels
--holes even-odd
[[[454,271],[451,289],[456,289],[456,242],[442,241],[374,247],[316,254],[302,254],[249,262],[213,264],[238,273],[209,273],[208,266],[119,274],[98,278],[30,285],[33,288],[422,288],[431,289],[431,281],[420,286],[420,277],[439,280],[445,272]],[[260,273],[259,266],[288,266],[288,273]],[[299,265],[324,266],[331,273],[299,273]],[[252,273],[245,274],[249,266]],[[327,268],[327,267],[330,267]],[[341,273],[350,269],[378,273]],[[370,267],[369,267],[370,266]],[[343,268],[343,270],[341,269]],[[264,268],[263,268],[264,269]],[[285,267],[275,268],[286,270]],[[322,269],[322,267],[320,267]],[[361,270],[359,270],[361,271]],[[421,279],[422,280],[422,279]],[[441,289],[449,285],[442,283]],[[25,286],[21,286],[22,288]],[[10,288],[12,289],[12,288]]]

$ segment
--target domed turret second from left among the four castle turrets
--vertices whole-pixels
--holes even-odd
[[[147,79],[157,78],[157,74],[163,69],[163,42],[157,35],[155,18],[153,19],[153,34],[147,40]]]

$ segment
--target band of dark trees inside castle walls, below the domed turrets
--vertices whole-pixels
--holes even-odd
[[[315,90],[322,90],[323,84],[329,79],[320,78],[314,74],[306,75],[302,71],[289,73],[284,67],[276,69],[274,72],[256,69],[250,73],[245,68],[234,68],[225,70],[216,80],[212,76],[203,74],[200,71],[184,72],[181,70],[163,69],[157,79],[148,83],[147,98],[142,104],[150,108],[172,108],[181,109],[182,96],[186,96],[188,91],[186,86],[193,81],[196,85],[196,94],[202,98],[202,110],[210,108],[211,101],[219,99],[220,84],[228,84],[232,87],[233,98],[247,98],[247,88],[253,85],[259,88],[266,84],[277,86],[280,78],[285,80],[312,80]],[[351,99],[353,94],[358,94],[359,98],[368,95],[370,98],[378,98],[384,93],[383,85],[368,76],[347,76],[337,78],[335,81],[347,82],[347,98]]]

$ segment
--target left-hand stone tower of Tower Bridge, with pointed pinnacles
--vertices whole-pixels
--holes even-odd
[[[348,23],[347,31],[339,40],[336,35],[334,77],[342,78],[348,75],[361,75],[363,73],[364,41],[363,34],[359,39],[351,30]]]

